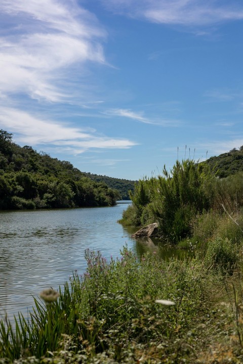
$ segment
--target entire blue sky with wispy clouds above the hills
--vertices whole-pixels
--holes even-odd
[[[1,0],[0,129],[137,180],[243,145],[242,0]]]

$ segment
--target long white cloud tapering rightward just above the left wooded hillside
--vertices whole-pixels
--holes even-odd
[[[89,149],[127,149],[136,145],[128,139],[100,136],[90,128],[74,128],[53,120],[43,120],[21,110],[0,108],[3,128],[16,133],[18,143],[47,148],[56,147],[59,152],[80,154]]]

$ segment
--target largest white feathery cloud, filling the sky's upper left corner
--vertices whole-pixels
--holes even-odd
[[[77,75],[82,86],[87,62],[105,63],[101,43],[105,31],[75,1],[3,0],[0,12],[2,25],[8,25],[6,35],[2,30],[0,37],[1,96],[68,100],[72,93],[66,86]]]

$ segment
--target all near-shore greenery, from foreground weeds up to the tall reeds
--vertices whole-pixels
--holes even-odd
[[[0,363],[242,363],[243,172],[220,173],[185,159],[139,180],[121,222],[156,222],[186,258],[86,250],[82,276],[0,323]]]

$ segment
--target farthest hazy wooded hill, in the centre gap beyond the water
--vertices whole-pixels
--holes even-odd
[[[110,188],[119,191],[122,200],[130,200],[129,191],[134,192],[134,185],[137,181],[108,177],[106,175],[84,172],[85,175],[97,182],[103,182]]]

